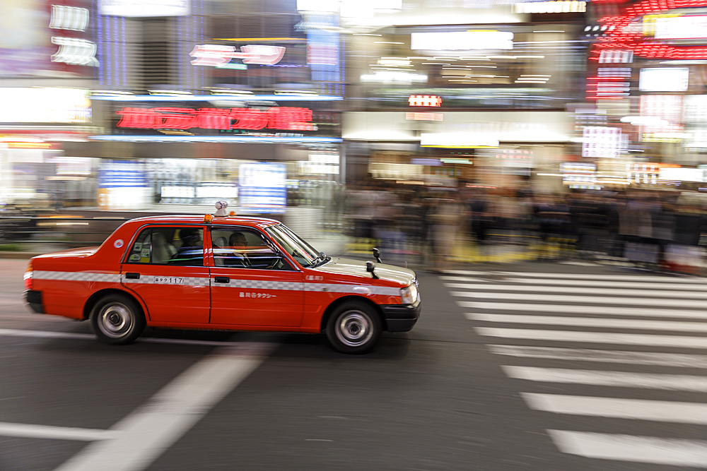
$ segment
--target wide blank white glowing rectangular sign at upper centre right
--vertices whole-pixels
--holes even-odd
[[[510,31],[413,32],[411,49],[425,51],[470,51],[513,49]]]

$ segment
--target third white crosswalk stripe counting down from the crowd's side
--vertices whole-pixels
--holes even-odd
[[[621,290],[614,288],[584,288],[571,286],[527,286],[527,285],[472,285],[468,283],[443,283],[445,287],[455,290],[481,290],[481,291],[515,291],[515,292],[537,292],[537,293],[568,293],[568,294],[609,294],[612,296],[633,296],[633,297],[680,297],[691,299],[707,299],[707,291],[703,292],[679,292],[671,290],[655,290],[650,285],[643,290]],[[498,296],[506,296],[505,293],[493,293]],[[704,303],[703,303],[704,304]]]

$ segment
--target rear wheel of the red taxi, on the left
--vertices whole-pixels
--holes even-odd
[[[108,294],[93,306],[90,326],[101,342],[125,345],[134,342],[145,330],[145,316],[129,297]]]

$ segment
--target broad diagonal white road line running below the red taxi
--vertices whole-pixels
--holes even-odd
[[[117,439],[94,442],[56,471],[137,471],[151,465],[276,348],[241,343],[192,365],[110,428]]]

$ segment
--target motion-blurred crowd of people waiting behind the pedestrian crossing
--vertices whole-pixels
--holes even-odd
[[[451,268],[462,247],[478,254],[513,247],[535,259],[699,267],[706,215],[707,194],[680,191],[537,193],[375,183],[352,186],[346,194],[349,235],[380,245],[389,259],[417,257],[438,270]]]

